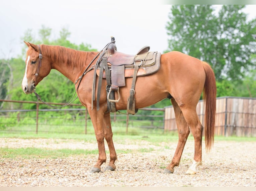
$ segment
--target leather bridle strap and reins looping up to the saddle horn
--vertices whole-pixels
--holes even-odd
[[[34,84],[33,84],[34,94],[35,94],[36,97],[37,97],[37,104],[39,104],[39,103],[38,103],[38,100],[40,100],[41,102],[43,102],[44,104],[46,104],[46,105],[48,105],[48,106],[50,106],[50,107],[60,108],[60,107],[65,107],[65,106],[70,105],[71,103],[73,103],[73,102],[77,99],[77,97],[78,97],[78,96],[76,96],[76,98],[74,99],[74,97],[75,97],[75,95],[76,95],[76,93],[77,93],[77,91],[78,91],[79,85],[80,85],[80,83],[81,83],[81,81],[82,81],[82,78],[83,78],[89,71],[91,71],[91,70],[93,70],[94,68],[96,68],[95,65],[92,65],[92,67],[89,69],[89,67],[91,66],[91,64],[92,64],[92,63],[95,61],[95,59],[100,55],[100,53],[101,53],[101,52],[104,53],[105,50],[106,50],[106,48],[108,47],[108,45],[111,44],[111,43],[113,43],[113,41],[110,42],[110,43],[108,43],[108,44],[102,49],[102,51],[100,51],[100,52],[94,57],[94,59],[90,62],[90,64],[86,67],[86,69],[84,70],[82,76],[80,76],[80,77],[78,78],[78,80],[76,80],[76,82],[75,82],[75,85],[76,85],[76,84],[78,83],[78,81],[79,81],[78,86],[77,86],[77,88],[76,88],[76,91],[75,91],[74,95],[72,96],[72,98],[71,98],[66,104],[61,105],[61,106],[54,106],[54,105],[51,105],[51,104],[46,103],[46,102],[43,101],[43,100],[41,99],[41,97],[36,93],[35,83],[36,83],[36,80],[37,80],[37,77],[38,77],[39,70],[40,70],[40,68],[41,68],[41,66],[42,66],[42,61],[41,61],[41,60],[42,60],[42,58],[43,58],[42,52],[41,52],[41,47],[40,47],[40,45],[37,45],[38,48],[39,48],[39,63],[38,63],[37,70],[36,70],[36,73],[35,73],[35,80],[34,80],[35,82],[34,82]],[[103,55],[103,54],[102,54],[102,55]],[[100,58],[97,60],[97,63],[99,63],[99,61],[101,60],[102,55],[101,55]],[[97,65],[97,64],[96,64],[96,65]]]

